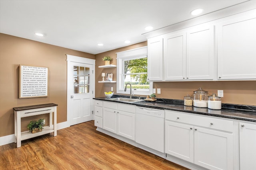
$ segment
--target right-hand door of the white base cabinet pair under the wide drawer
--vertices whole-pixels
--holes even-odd
[[[211,170],[233,169],[230,133],[194,127],[194,163]]]

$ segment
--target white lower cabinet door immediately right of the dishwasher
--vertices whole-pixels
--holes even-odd
[[[165,121],[165,152],[194,163],[194,127]]]

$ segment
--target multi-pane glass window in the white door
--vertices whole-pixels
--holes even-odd
[[[90,68],[74,66],[74,93],[89,93]]]

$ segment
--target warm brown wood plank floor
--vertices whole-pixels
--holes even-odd
[[[94,121],[0,146],[0,170],[188,170],[96,131]]]

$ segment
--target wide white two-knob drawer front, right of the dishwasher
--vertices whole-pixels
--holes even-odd
[[[166,120],[233,132],[233,121],[203,117],[193,113],[182,113],[179,111],[166,110],[165,113]]]

